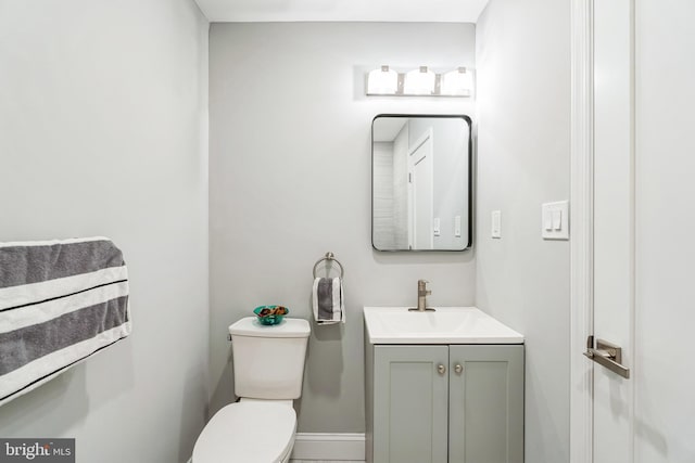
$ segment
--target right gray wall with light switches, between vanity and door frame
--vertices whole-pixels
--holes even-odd
[[[569,7],[491,0],[476,37],[476,301],[527,338],[528,462],[569,460],[569,244],[541,239],[541,203],[569,198]]]

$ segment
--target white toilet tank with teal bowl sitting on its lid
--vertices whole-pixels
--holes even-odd
[[[285,319],[262,325],[247,317],[229,326],[235,394],[252,399],[298,399],[302,395],[309,325]]]

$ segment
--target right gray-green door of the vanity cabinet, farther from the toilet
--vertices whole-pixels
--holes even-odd
[[[522,463],[523,346],[452,345],[450,371],[448,462]]]

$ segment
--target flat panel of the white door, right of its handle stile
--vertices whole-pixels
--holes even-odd
[[[635,8],[637,463],[695,462],[695,2]]]

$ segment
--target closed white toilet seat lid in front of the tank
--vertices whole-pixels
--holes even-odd
[[[240,401],[210,420],[193,448],[192,463],[279,463],[294,445],[291,401]]]

